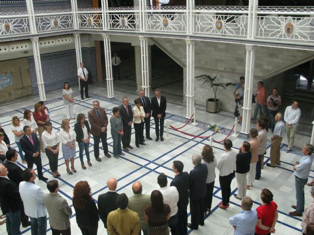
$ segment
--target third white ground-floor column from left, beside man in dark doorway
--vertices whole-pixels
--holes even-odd
[[[113,78],[112,78],[112,62],[111,62],[111,47],[110,35],[103,34],[104,49],[105,49],[105,67],[106,67],[106,81],[107,81],[107,97],[114,98],[113,94]]]

